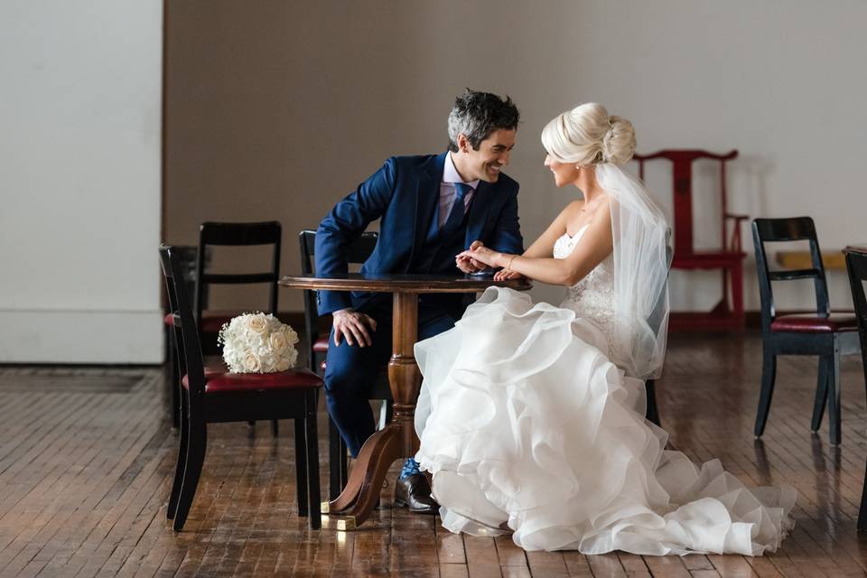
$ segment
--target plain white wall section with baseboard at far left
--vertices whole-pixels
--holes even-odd
[[[0,362],[158,362],[162,3],[0,23]]]

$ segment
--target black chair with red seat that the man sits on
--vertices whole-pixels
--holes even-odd
[[[379,238],[376,232],[363,233],[348,248],[347,256],[350,264],[364,263],[368,256],[373,253]],[[301,271],[305,275],[313,273],[313,257],[315,256],[316,231],[303,230],[298,235],[298,244],[301,249]],[[316,312],[316,293],[304,291],[304,325],[307,331],[307,359],[310,360],[310,368],[320,375],[324,375],[325,358],[328,354],[329,331],[320,333],[320,316]],[[391,388],[388,386],[387,368],[379,372],[370,392],[370,399],[384,400],[382,413],[379,418],[379,426],[382,427],[391,421],[392,402]],[[329,495],[336,499],[349,477],[349,465],[347,463],[346,442],[340,437],[337,426],[328,418],[328,464],[329,464]]]

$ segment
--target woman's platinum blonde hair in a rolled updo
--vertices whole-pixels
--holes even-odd
[[[601,104],[588,102],[545,125],[542,145],[561,163],[623,164],[635,153],[635,129],[625,118],[610,117]]]

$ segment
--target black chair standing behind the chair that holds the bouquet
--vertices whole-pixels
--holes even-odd
[[[196,327],[202,340],[202,352],[205,355],[219,355],[217,334],[224,323],[231,321],[243,311],[207,311],[204,304],[208,303],[210,287],[218,284],[270,284],[268,294],[268,309],[277,314],[277,281],[280,278],[280,244],[283,236],[280,223],[265,221],[258,223],[214,223],[204,222],[199,227],[199,248],[196,259],[195,298],[193,302]],[[206,256],[214,256],[219,249],[216,247],[254,247],[271,246],[270,269],[261,273],[211,273],[207,264],[213,260]],[[172,314],[163,320],[171,330]],[[173,331],[169,331],[170,340]],[[172,359],[174,348],[170,347],[172,368],[172,424],[180,424],[180,376],[184,370],[182,359]],[[277,434],[277,422],[272,422],[272,431]]]

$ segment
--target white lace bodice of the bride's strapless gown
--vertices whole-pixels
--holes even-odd
[[[555,259],[564,259],[578,246],[587,227],[579,229],[574,237],[565,234],[554,244]],[[614,262],[609,255],[581,281],[566,290],[561,307],[572,309],[580,317],[593,322],[608,341],[608,356],[618,359],[614,341]],[[616,362],[616,361],[615,361]]]

